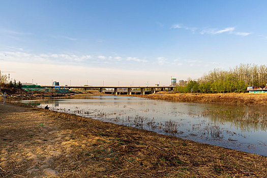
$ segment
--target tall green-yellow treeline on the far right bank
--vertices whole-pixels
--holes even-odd
[[[267,66],[241,64],[233,69],[214,69],[197,80],[190,80],[187,86],[177,86],[176,91],[184,93],[232,93],[246,92],[247,86],[265,87]]]

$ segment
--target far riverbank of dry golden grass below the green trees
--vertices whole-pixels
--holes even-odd
[[[138,97],[175,102],[267,106],[267,94],[168,94],[167,92],[159,92],[156,94],[143,95]]]

